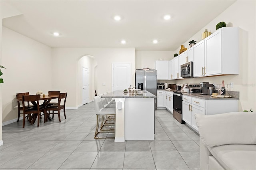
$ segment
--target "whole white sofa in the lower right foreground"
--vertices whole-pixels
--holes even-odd
[[[195,114],[201,170],[256,170],[256,113]]]

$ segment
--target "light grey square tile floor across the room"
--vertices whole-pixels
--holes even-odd
[[[0,169],[199,169],[199,135],[166,110],[156,111],[154,141],[94,140],[94,103],[67,110],[40,127],[22,120],[2,127]]]

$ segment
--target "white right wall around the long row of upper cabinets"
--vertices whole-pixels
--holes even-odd
[[[210,82],[221,84],[222,80],[227,85],[234,82],[232,91],[240,91],[239,110],[256,111],[256,1],[236,1],[232,6],[207,24],[202,30],[192,36],[190,40],[200,42],[202,32],[208,29],[210,32],[216,31],[216,24],[226,22],[227,26],[239,27],[239,75],[227,75],[218,77],[193,78],[175,81],[176,83],[199,83]],[[183,44],[188,47],[188,41]],[[180,48],[176,50],[178,51]],[[217,107],[217,106],[216,106]]]

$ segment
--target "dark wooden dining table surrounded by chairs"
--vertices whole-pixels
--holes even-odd
[[[59,97],[59,95],[40,95],[39,101],[44,101],[43,104],[40,105],[40,106],[46,107],[46,106],[50,103],[50,101],[51,101],[52,99],[57,99],[58,97]],[[17,98],[17,101],[22,101],[22,98]],[[34,107],[37,107],[37,103],[36,103],[36,102],[31,102],[31,103],[34,105]],[[37,118],[37,115],[36,115],[36,114],[33,114],[33,115],[32,115],[31,124],[34,124],[34,123],[35,123],[36,118]],[[48,114],[47,114],[47,118],[48,118],[48,120],[50,120],[50,121],[52,120],[52,118],[51,118],[50,115],[48,115]]]

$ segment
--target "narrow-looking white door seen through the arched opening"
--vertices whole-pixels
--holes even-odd
[[[88,69],[84,68],[82,69],[82,105],[88,103]]]

